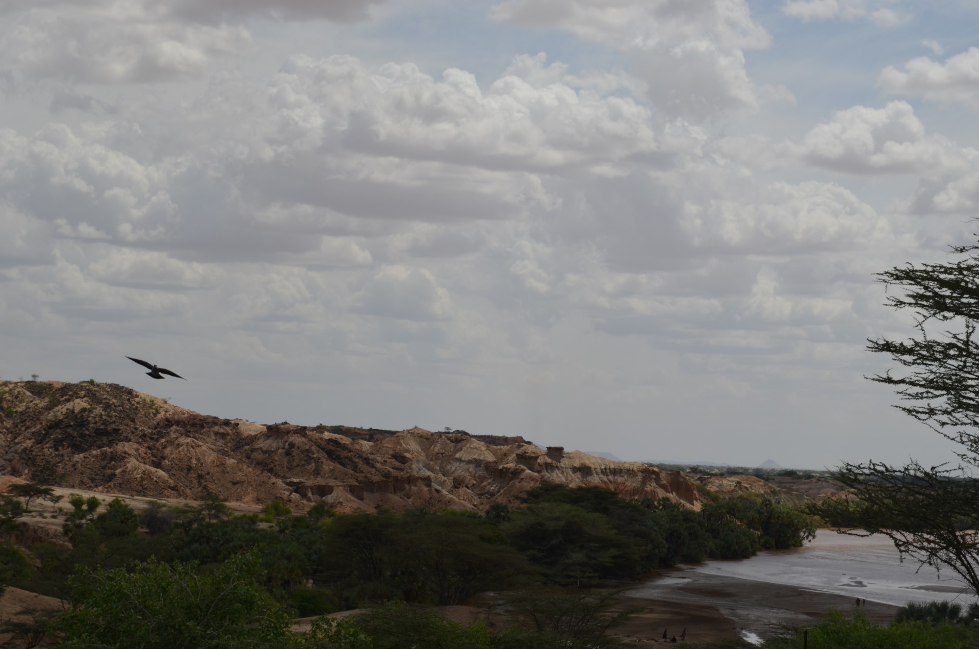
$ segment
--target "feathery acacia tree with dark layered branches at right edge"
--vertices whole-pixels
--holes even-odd
[[[903,370],[867,378],[893,386],[897,408],[956,442],[958,462],[844,464],[835,476],[856,498],[828,501],[820,514],[885,534],[903,557],[951,569],[979,592],[979,245],[951,252],[957,261],[877,274],[887,289],[899,289],[887,304],[912,314],[916,333],[868,339],[867,349],[889,354]]]

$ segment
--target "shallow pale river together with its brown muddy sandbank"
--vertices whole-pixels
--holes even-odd
[[[781,624],[815,624],[830,609],[849,612],[858,598],[876,624],[887,624],[896,607],[909,602],[954,600],[965,608],[975,601],[951,571],[938,574],[927,566],[919,570],[913,560],[902,562],[886,537],[828,529],[801,548],[664,571],[627,596],[645,609],[636,629],[689,628],[689,639],[697,641],[731,632],[753,641],[767,638]]]

